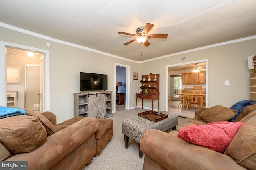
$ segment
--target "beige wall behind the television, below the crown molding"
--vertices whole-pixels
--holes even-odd
[[[115,63],[130,66],[130,72],[138,72],[139,64],[76,47],[51,42],[20,32],[0,27],[0,41],[16,43],[50,51],[50,111],[57,116],[57,121],[74,117],[73,93],[79,91],[79,73],[102,73],[108,75],[108,91],[115,90]],[[50,42],[51,47],[45,43]],[[4,56],[0,56],[4,57]],[[130,74],[130,79],[132,79]],[[139,81],[130,82],[130,93],[137,93]],[[135,97],[130,97],[130,107],[135,107]],[[115,99],[114,94],[112,99]]]

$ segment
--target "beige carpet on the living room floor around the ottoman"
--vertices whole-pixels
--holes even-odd
[[[137,108],[121,110],[113,114],[114,135],[110,142],[102,149],[100,156],[94,157],[92,164],[85,166],[83,170],[142,170],[143,158],[139,158],[138,143],[129,139],[129,148],[124,146],[124,134],[122,134],[122,121],[137,117],[138,113],[147,109]],[[190,118],[180,118],[178,126],[189,121]]]

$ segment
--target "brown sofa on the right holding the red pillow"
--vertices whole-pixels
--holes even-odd
[[[211,110],[210,115],[204,115],[209,111],[207,109]],[[225,115],[229,115],[229,118],[225,117]],[[217,109],[214,109],[214,107],[198,107],[196,108],[195,117],[188,123],[176,128],[176,131],[165,133],[159,130],[147,130],[140,140],[140,149],[145,154],[143,169],[255,170],[256,105],[245,107],[234,120],[234,122],[242,122],[244,124],[236,132],[223,153],[192,144],[177,137],[179,131],[189,125],[206,125],[209,123],[208,121],[211,122],[211,119],[214,121],[227,121],[227,119],[231,118],[232,113],[226,113],[225,109],[221,111],[218,106]]]

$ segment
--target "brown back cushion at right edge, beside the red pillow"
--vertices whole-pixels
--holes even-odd
[[[243,119],[244,125],[238,130],[224,154],[231,156],[239,165],[256,169],[256,111]]]

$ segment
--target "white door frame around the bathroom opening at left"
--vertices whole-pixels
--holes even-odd
[[[0,41],[0,105],[6,106],[6,48],[34,51],[35,53],[44,54],[44,111],[50,111],[50,51],[3,41]]]

